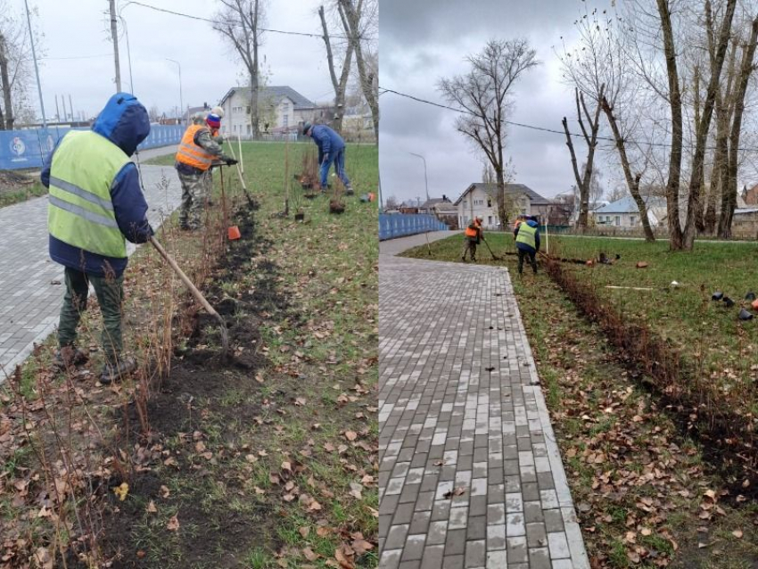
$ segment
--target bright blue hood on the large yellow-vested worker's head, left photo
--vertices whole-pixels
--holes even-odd
[[[150,134],[150,118],[135,95],[117,93],[97,115],[92,129],[131,156]]]

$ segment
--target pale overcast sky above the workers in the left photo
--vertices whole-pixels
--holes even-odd
[[[23,0],[8,4],[22,13]],[[95,115],[115,92],[114,64],[107,0],[29,0],[37,6],[37,25],[45,37],[41,47],[47,59],[41,61],[45,112],[55,114],[55,95],[71,95],[74,111]],[[185,107],[204,102],[211,106],[239,82],[241,63],[210,23],[154,12],[126,0],[123,7],[131,47],[134,93],[149,109],[161,111],[179,105],[177,65],[181,65]],[[210,18],[218,9],[213,0],[144,0],[143,4]],[[268,28],[320,33],[318,0],[271,0]],[[25,22],[25,21],[24,21]],[[334,97],[325,64],[324,42],[319,37],[264,36],[262,55],[271,72],[269,85],[289,85],[311,100]],[[120,38],[121,87],[129,90],[127,39]],[[87,56],[88,59],[51,59]],[[31,90],[37,103],[37,86]]]

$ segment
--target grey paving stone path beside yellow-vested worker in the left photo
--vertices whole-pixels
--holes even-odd
[[[176,147],[140,153],[140,160],[172,153]],[[175,210],[181,187],[173,167],[141,166],[152,227]],[[169,181],[168,189],[161,178]],[[129,253],[135,247],[129,247]],[[64,293],[63,268],[47,254],[47,198],[0,208],[0,383],[34,343],[44,342],[58,324]]]

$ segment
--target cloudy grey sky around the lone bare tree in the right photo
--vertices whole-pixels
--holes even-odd
[[[515,88],[512,120],[561,130],[563,116],[575,119],[575,111],[553,46],[560,45],[561,36],[572,41],[573,22],[583,10],[581,0],[382,0],[380,86],[444,103],[436,85],[441,77],[466,72],[466,54],[481,51],[490,38],[526,37],[542,64]],[[455,112],[389,93],[380,103],[385,199],[424,200],[424,164],[408,153],[425,156],[431,197],[446,194],[454,200],[481,181],[481,155],[456,131]],[[563,135],[511,127],[507,155],[513,157],[515,181],[538,194],[552,197],[574,184]]]

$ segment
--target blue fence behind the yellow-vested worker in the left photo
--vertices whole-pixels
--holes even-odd
[[[0,169],[40,168],[47,154],[70,130],[50,127],[0,131]],[[152,125],[139,149],[178,144],[184,131],[181,125]]]

